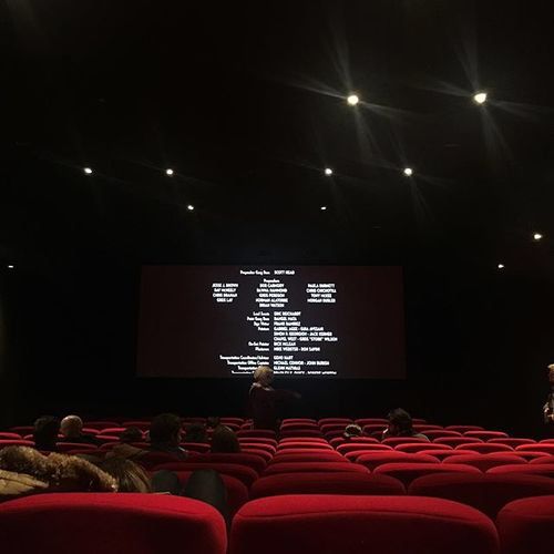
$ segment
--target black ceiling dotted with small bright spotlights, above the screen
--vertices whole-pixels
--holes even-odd
[[[6,0],[3,264],[551,273],[551,3]]]

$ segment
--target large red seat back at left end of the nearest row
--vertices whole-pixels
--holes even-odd
[[[32,530],[32,532],[31,532]],[[35,494],[0,504],[3,552],[18,554],[225,554],[222,515],[163,494]]]

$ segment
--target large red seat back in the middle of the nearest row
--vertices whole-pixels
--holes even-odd
[[[496,554],[493,523],[476,510],[414,496],[284,495],[245,504],[232,554]]]

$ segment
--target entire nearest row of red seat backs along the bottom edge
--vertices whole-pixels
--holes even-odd
[[[229,532],[230,554],[546,554],[554,495],[504,505],[496,525],[438,497],[283,495],[246,503]],[[32,530],[32,532],[29,532]],[[145,494],[39,494],[0,505],[2,548],[20,554],[225,554],[223,517],[208,504]]]

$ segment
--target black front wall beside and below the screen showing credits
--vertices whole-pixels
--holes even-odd
[[[302,400],[284,414],[386,414],[402,406],[443,423],[537,434],[554,359],[547,279],[456,264],[406,267],[408,380],[285,381]],[[248,380],[137,379],[140,268],[68,267],[3,276],[2,423],[40,413],[244,413]],[[6,339],[4,339],[6,342]],[[6,387],[6,389],[4,389]]]

